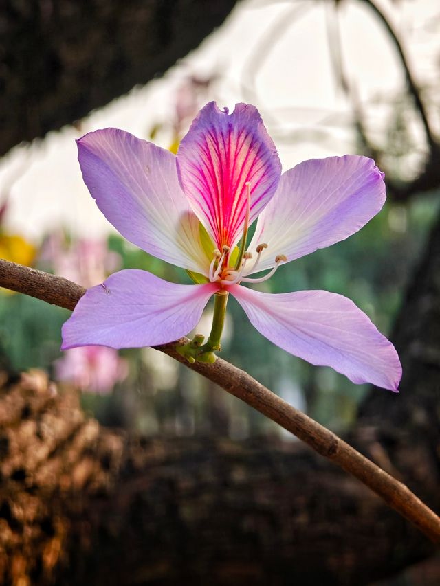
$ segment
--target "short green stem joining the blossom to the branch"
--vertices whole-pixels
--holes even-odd
[[[228,304],[228,291],[222,289],[214,295],[214,316],[212,317],[211,333],[203,344],[204,337],[196,334],[184,346],[177,346],[176,350],[191,364],[198,362],[214,363],[217,359],[214,351],[220,350],[221,333],[225,324],[226,305]]]

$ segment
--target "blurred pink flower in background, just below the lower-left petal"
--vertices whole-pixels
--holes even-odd
[[[123,381],[128,363],[113,348],[82,346],[65,352],[55,361],[56,379],[72,383],[83,391],[105,394]]]

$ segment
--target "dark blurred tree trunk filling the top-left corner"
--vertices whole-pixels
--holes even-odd
[[[223,23],[236,0],[5,0],[0,156],[144,84]]]

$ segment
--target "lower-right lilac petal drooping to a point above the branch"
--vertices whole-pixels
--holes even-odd
[[[391,342],[355,304],[327,291],[270,294],[229,288],[251,324],[287,352],[331,366],[353,383],[397,392],[401,365]]]

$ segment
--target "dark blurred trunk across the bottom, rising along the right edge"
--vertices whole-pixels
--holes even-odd
[[[395,330],[401,393],[373,390],[349,438],[434,510],[439,274],[440,222]],[[404,519],[303,445],[129,439],[100,429],[72,401],[38,377],[3,385],[5,579],[362,585],[432,552]]]

